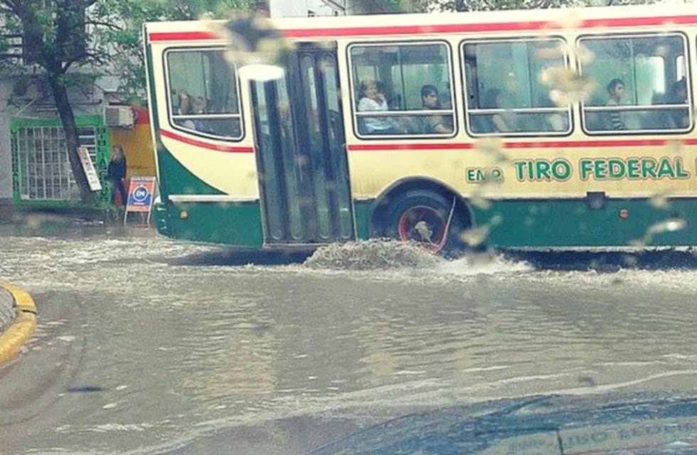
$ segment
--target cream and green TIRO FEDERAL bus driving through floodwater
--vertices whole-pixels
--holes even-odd
[[[144,26],[161,234],[697,245],[697,6],[271,23],[292,44],[276,79],[211,23]]]

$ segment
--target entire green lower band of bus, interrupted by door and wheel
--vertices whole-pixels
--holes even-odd
[[[356,202],[356,233],[368,237],[371,203]],[[672,200],[657,208],[646,199],[605,200],[592,210],[585,200],[491,201],[473,208],[477,226],[488,226],[486,243],[501,248],[629,247],[697,245],[697,200]],[[182,217],[181,213],[186,212]],[[168,237],[261,248],[258,203],[158,204],[158,231]]]

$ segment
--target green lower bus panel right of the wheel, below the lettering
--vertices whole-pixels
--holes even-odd
[[[474,209],[477,225],[490,228],[496,247],[629,247],[697,245],[697,200],[651,203],[647,199],[494,201]]]

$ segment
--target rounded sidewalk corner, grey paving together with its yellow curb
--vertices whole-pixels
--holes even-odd
[[[28,292],[0,282],[0,364],[16,357],[36,330],[36,305]]]

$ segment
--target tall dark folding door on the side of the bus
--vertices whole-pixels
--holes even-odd
[[[353,240],[336,44],[298,45],[250,81],[265,246]]]

